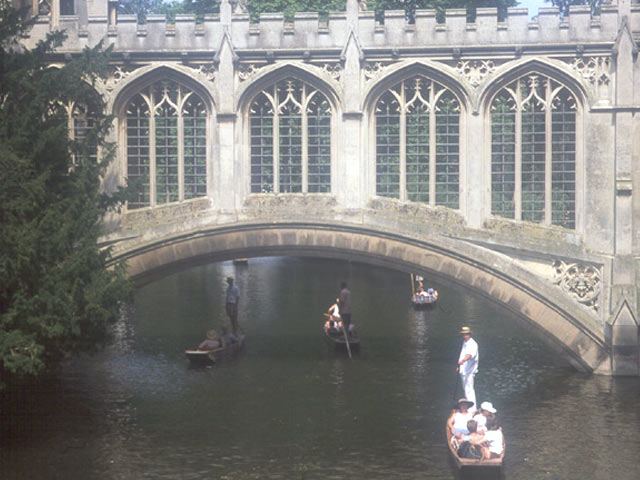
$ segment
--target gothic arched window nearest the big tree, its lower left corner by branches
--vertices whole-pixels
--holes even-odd
[[[126,107],[128,208],[162,205],[207,193],[207,110],[189,88],[161,81]]]

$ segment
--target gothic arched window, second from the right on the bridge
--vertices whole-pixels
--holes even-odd
[[[378,99],[376,195],[459,208],[460,103],[423,76]]]

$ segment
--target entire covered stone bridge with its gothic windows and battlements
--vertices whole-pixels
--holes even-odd
[[[52,67],[114,46],[104,184],[138,185],[105,222],[114,261],[136,279],[264,255],[424,273],[576,368],[639,374],[639,5],[407,23],[348,0],[254,23],[232,3],[139,23],[117,1],[34,2],[27,46],[68,33]],[[68,110],[82,135],[90,118]]]

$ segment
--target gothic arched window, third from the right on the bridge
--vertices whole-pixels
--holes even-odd
[[[331,190],[331,106],[311,85],[288,78],[251,102],[252,193]]]

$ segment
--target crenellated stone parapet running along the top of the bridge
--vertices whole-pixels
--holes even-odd
[[[503,21],[498,21],[495,8],[480,8],[474,23],[467,22],[463,9],[447,10],[443,23],[438,23],[435,10],[418,10],[415,23],[409,24],[403,11],[387,11],[378,23],[371,11],[333,12],[321,20],[315,12],[297,13],[293,22],[285,22],[281,13],[262,14],[252,23],[247,14],[206,15],[198,22],[194,15],[178,15],[168,23],[165,15],[149,15],[146,23],[138,23],[135,15],[38,17],[25,38],[34,45],[51,30],[64,29],[68,39],[62,52],[79,51],[106,38],[116,52],[140,52],[162,55],[167,52],[215,51],[228,32],[236,51],[341,51],[351,31],[359,48],[366,54],[380,49],[408,49],[428,53],[443,47],[488,49],[496,46],[541,46],[555,48],[581,44],[597,48],[615,42],[620,15],[617,5],[605,5],[601,14],[592,17],[588,6],[570,8],[561,17],[557,8],[541,8],[529,21],[525,8],[509,8]],[[630,8],[629,25],[640,31],[640,5]]]

